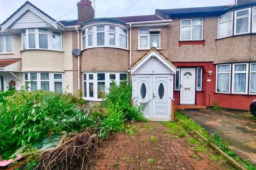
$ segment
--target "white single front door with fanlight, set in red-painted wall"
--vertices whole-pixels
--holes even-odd
[[[196,92],[196,69],[180,69],[180,104],[194,105]]]

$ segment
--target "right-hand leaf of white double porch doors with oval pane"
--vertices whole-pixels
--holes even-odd
[[[167,119],[171,115],[171,75],[153,75],[153,118]]]

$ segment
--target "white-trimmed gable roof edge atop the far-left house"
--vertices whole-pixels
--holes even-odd
[[[38,7],[30,3],[29,1],[26,1],[25,4],[18,8],[17,11],[15,11],[11,16],[9,16],[9,18],[7,18],[3,23],[0,24],[2,32],[6,30],[8,27],[10,27],[19,18],[21,18],[21,16],[23,16],[23,14],[25,14],[27,11],[33,12],[39,18],[45,20],[45,22],[47,22],[49,25],[57,29],[56,20],[51,18],[51,16],[47,15],[45,12],[40,10]]]

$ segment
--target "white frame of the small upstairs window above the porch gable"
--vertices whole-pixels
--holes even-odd
[[[160,28],[157,28],[159,29],[159,34],[154,34],[154,35],[159,35],[159,47],[156,49],[161,49],[161,29]],[[148,33],[147,34],[140,34],[140,30],[148,30]],[[153,30],[152,30],[153,31]],[[148,37],[148,43],[147,43],[147,47],[140,47],[140,37]],[[150,49],[150,28],[139,28],[138,29],[138,50],[145,50],[145,49]]]

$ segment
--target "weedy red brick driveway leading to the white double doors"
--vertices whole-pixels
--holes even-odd
[[[174,139],[164,133],[168,128],[161,122],[135,125],[138,130],[134,139],[130,134],[118,132],[103,142],[94,169],[231,169],[221,167],[201,152],[197,153],[200,160],[193,158],[195,152],[191,150],[193,146],[188,139]],[[157,141],[153,142],[152,136]],[[153,160],[151,165],[149,160]]]

